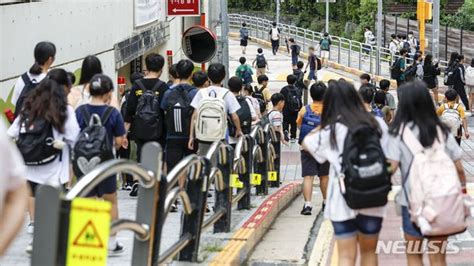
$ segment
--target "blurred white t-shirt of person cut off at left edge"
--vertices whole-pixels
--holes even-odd
[[[7,128],[0,121],[0,216],[5,204],[5,196],[25,182],[26,168],[16,146],[6,134]]]

